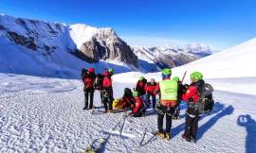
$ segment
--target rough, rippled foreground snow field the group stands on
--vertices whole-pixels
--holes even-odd
[[[106,138],[104,131],[122,120],[123,112],[101,113],[99,92],[93,114],[82,110],[82,82],[78,80],[0,77],[0,152],[82,152],[94,139]],[[114,82],[115,97],[125,87],[133,84]],[[182,104],[181,119],[173,121],[171,141],[150,133],[157,127],[156,113],[151,111],[146,117],[126,118],[123,136],[111,135],[101,152],[255,152],[256,96],[220,91],[214,96],[217,103],[210,115],[201,117],[196,144],[181,139],[186,107]],[[148,132],[139,146],[145,127]]]

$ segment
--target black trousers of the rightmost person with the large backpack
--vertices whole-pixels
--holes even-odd
[[[198,121],[200,116],[196,115],[195,117],[191,117],[186,113],[186,122],[185,122],[185,132],[184,135],[187,138],[193,138],[196,140],[196,134],[198,130]]]

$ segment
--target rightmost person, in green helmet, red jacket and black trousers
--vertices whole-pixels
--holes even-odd
[[[182,138],[188,142],[196,141],[198,130],[198,121],[200,118],[199,107],[199,90],[204,85],[203,75],[199,72],[193,72],[191,75],[192,83],[187,88],[186,93],[182,94],[182,99],[188,103],[186,110],[185,132]]]

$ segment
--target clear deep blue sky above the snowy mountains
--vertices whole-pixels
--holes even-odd
[[[1,0],[0,12],[110,26],[131,45],[200,42],[224,49],[256,37],[255,0]]]

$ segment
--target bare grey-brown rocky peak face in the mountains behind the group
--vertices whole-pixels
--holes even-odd
[[[82,42],[79,48],[82,59],[96,62],[100,59],[116,59],[137,67],[137,56],[111,28],[100,28],[91,39]]]

